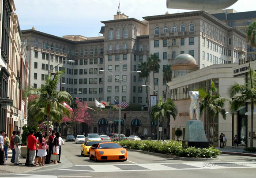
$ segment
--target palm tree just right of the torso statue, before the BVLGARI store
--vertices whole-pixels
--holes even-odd
[[[202,117],[203,112],[207,111],[207,136],[208,141],[210,142],[210,123],[211,118],[214,120],[215,116],[218,116],[218,114],[221,114],[223,119],[226,120],[226,110],[224,109],[225,102],[227,101],[226,98],[221,97],[220,94],[215,94],[217,89],[215,87],[214,82],[211,82],[211,89],[207,91],[207,89],[204,88],[196,88],[196,91],[199,92],[199,97],[202,98],[202,100],[199,101],[199,107],[200,107],[200,117]],[[214,128],[214,125],[212,126]],[[214,132],[214,129],[212,129]],[[211,133],[214,135],[214,133]],[[213,139],[212,139],[213,144]]]

